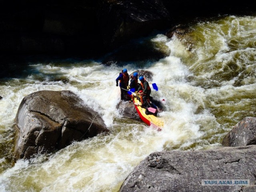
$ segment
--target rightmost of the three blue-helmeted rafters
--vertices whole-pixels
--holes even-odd
[[[147,105],[149,105],[150,100],[152,100],[152,97],[150,96],[151,88],[143,76],[140,76],[139,80],[140,80],[140,87],[138,88],[138,92],[140,92],[140,96],[142,97],[142,99],[141,99],[142,105],[141,106],[146,107]],[[142,91],[140,91],[140,90],[142,90]]]

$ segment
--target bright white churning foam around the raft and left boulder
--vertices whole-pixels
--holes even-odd
[[[112,191],[113,188],[118,190],[117,186],[134,166],[151,152],[162,151],[166,146],[192,142],[202,136],[200,125],[196,124],[201,116],[194,112],[197,106],[202,104],[203,90],[186,82],[189,71],[175,56],[169,56],[145,68],[154,74],[150,84],[155,82],[159,88],[158,91],[152,89],[154,98],[166,98],[167,110],[159,114],[165,124],[161,132],[146,125],[114,122],[114,118],[123,118],[116,109],[120,101],[120,88],[116,87],[115,79],[122,68],[128,68],[130,73],[138,70],[132,68],[132,65],[122,68],[117,66],[108,68],[100,64],[95,67],[85,65],[69,69],[43,65],[36,67],[39,67],[45,76],[51,74],[53,69],[54,72],[61,72],[62,76],[78,84],[72,82],[64,84],[61,81],[47,84],[46,81],[34,81],[22,86],[20,90],[12,90],[9,96],[15,93],[15,98],[10,102],[15,105],[11,107],[10,114],[15,114],[22,98],[32,92],[71,90],[98,112],[111,130],[115,130],[111,126],[118,126],[120,130],[118,133],[110,133],[110,136],[107,136],[109,141],[104,145],[101,145],[104,139],[100,136],[98,139],[97,136],[61,150],[47,162],[41,163],[35,160],[35,165],[23,167],[23,170],[18,169],[15,176],[12,169],[9,169],[5,174],[9,174],[12,178],[8,177],[6,181],[12,180],[24,185],[34,178],[34,182],[38,182],[36,185],[40,191]],[[47,78],[43,77],[43,79]],[[79,87],[87,83],[91,84],[84,88]],[[188,94],[191,92],[194,94]],[[30,175],[31,178],[20,180],[24,174]],[[4,176],[1,175],[2,178]],[[39,179],[38,176],[42,178]],[[4,186],[10,187],[6,182]],[[35,188],[30,190],[36,191]]]

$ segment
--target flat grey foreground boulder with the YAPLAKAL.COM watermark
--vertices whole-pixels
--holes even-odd
[[[250,180],[255,191],[256,146],[154,152],[130,173],[120,192],[238,192],[244,186],[204,186],[204,180]],[[234,184],[234,183],[233,183]]]

